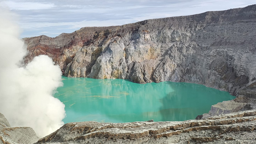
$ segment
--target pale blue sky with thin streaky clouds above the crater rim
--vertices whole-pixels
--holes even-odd
[[[0,0],[21,27],[20,38],[55,37],[82,27],[119,26],[147,19],[228,10],[255,0]]]

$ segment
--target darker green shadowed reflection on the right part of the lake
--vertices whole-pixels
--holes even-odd
[[[161,121],[185,121],[195,119],[197,115],[208,113],[211,105],[235,97],[227,92],[215,90],[204,85],[192,83],[165,82],[175,91],[160,99],[162,103]]]

